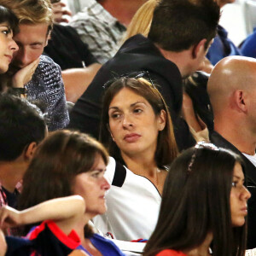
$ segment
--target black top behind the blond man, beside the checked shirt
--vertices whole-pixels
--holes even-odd
[[[59,64],[61,70],[84,67],[83,61],[86,67],[97,62],[76,30],[72,26],[60,24],[54,25],[48,45],[44,47],[44,54]]]

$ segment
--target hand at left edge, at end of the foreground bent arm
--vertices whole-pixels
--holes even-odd
[[[20,212],[12,207],[0,208],[0,228],[7,229],[20,225]]]

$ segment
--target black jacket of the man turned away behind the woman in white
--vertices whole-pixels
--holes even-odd
[[[117,54],[102,66],[73,107],[68,127],[90,133],[97,138],[104,92],[102,85],[109,79],[138,71],[148,71],[150,78],[159,85],[160,93],[165,98],[172,116],[178,148],[194,145],[195,140],[189,133],[188,125],[180,118],[183,102],[181,74],[177,66],[161,55],[159,49],[142,35],[128,39]]]

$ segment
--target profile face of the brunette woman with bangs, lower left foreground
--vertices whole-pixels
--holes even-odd
[[[110,188],[104,177],[106,170],[102,156],[98,155],[90,172],[82,172],[74,179],[73,194],[81,195],[86,203],[86,214],[90,218],[106,212],[105,194]]]

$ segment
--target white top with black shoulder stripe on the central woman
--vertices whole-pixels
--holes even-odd
[[[157,222],[161,196],[148,178],[134,174],[110,157],[105,177],[108,210],[93,218],[104,235],[123,241],[148,239]]]

